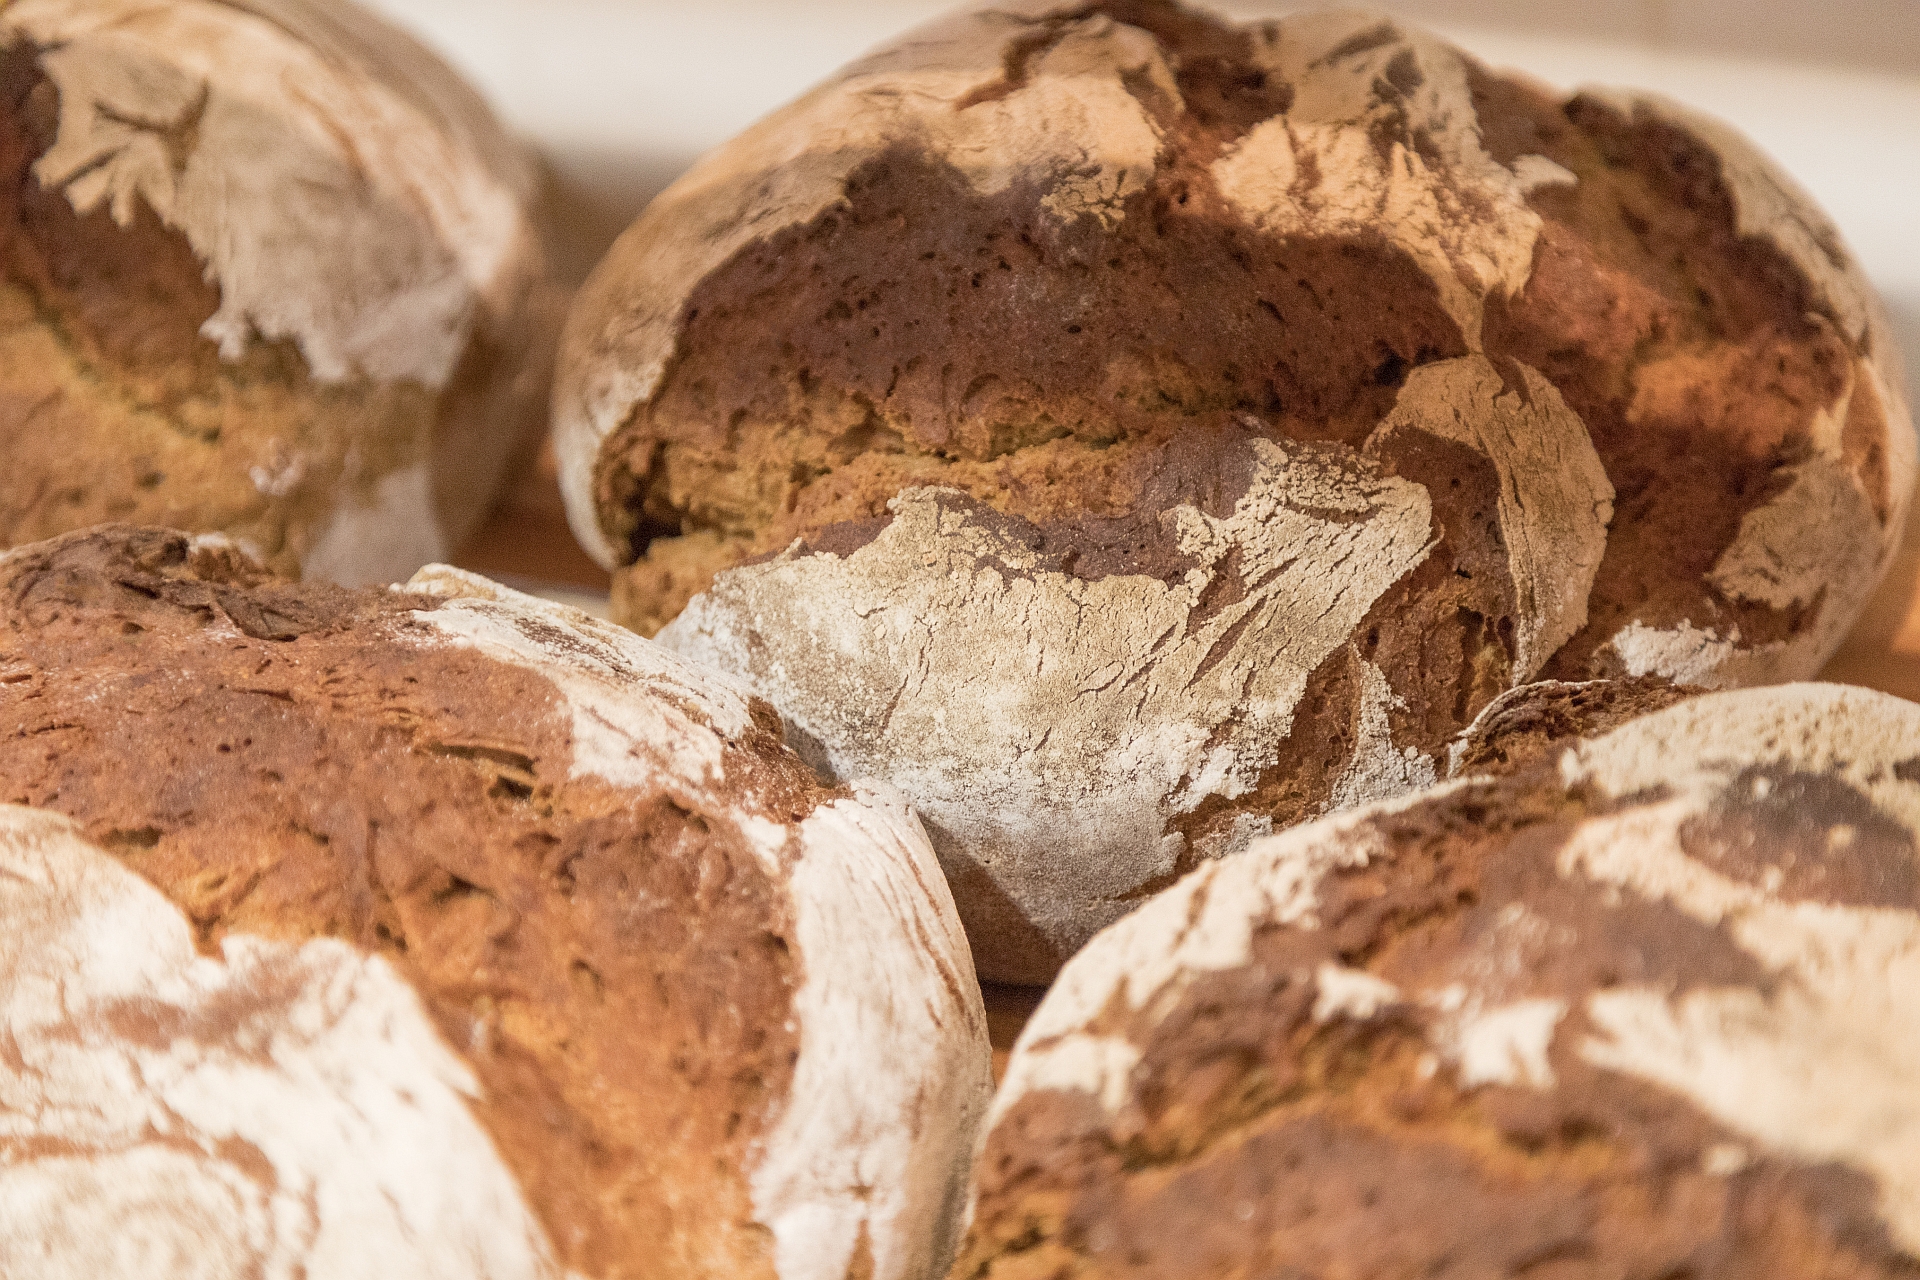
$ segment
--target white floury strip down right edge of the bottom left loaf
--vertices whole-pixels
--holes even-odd
[[[753,1169],[780,1280],[947,1272],[973,1134],[993,1094],[987,1011],[933,848],[874,783],[799,829],[791,898],[801,1057]]]

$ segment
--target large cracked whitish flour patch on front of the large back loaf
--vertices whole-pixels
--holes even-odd
[[[870,545],[730,570],[660,641],[745,677],[835,777],[897,785],[950,871],[1071,950],[1175,865],[1171,818],[1258,783],[1308,676],[1428,551],[1421,486],[1248,447],[1227,516],[1162,514],[1185,580],[1073,578],[972,499],[910,489]],[[1233,553],[1244,599],[1200,614]]]

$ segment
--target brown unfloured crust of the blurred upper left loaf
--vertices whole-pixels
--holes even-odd
[[[29,44],[0,50],[0,545],[104,520],[244,537],[298,574],[342,497],[417,461],[434,468],[447,547],[486,510],[507,455],[543,420],[559,330],[545,282],[474,326],[445,388],[315,382],[286,340],[223,359],[200,326],[219,309],[186,236],[134,201],[73,211],[33,163],[60,98]],[[255,472],[294,464],[269,493]]]

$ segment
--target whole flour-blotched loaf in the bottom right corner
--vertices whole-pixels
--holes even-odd
[[[1920,1274],[1916,747],[1705,695],[1198,871],[1027,1025],[954,1274]]]

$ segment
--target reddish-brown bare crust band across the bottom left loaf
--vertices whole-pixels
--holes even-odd
[[[555,687],[434,643],[432,597],[288,585],[177,533],[0,560],[0,798],[75,818],[194,921],[386,956],[472,1063],[563,1265],[772,1276],[739,1171],[799,1052],[785,892],[737,814],[570,777]],[[762,716],[728,777],[829,798]]]

